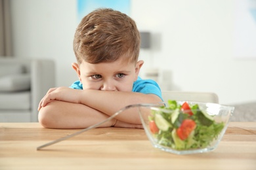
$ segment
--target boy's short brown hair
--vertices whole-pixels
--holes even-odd
[[[112,9],[97,9],[87,14],[75,31],[77,62],[112,62],[120,56],[137,62],[140,33],[134,20]]]

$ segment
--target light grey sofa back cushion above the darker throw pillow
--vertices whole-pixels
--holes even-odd
[[[0,63],[0,77],[24,73],[24,67],[19,63]]]

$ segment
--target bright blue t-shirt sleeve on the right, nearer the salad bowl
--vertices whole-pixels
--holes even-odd
[[[161,97],[160,86],[158,86],[158,84],[154,80],[137,80],[133,84],[133,92],[140,92],[144,94],[152,93],[158,95],[158,97],[160,97],[161,100],[163,101],[163,98]]]

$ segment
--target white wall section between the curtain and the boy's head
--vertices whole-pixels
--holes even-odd
[[[11,12],[14,56],[54,59],[57,86],[77,80],[71,67],[76,1],[11,0]]]

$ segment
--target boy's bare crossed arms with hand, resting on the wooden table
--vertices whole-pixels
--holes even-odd
[[[136,103],[158,103],[154,94],[52,88],[39,103],[39,122],[50,128],[84,128],[101,122],[119,109]],[[103,127],[142,128],[137,110],[129,109]]]

